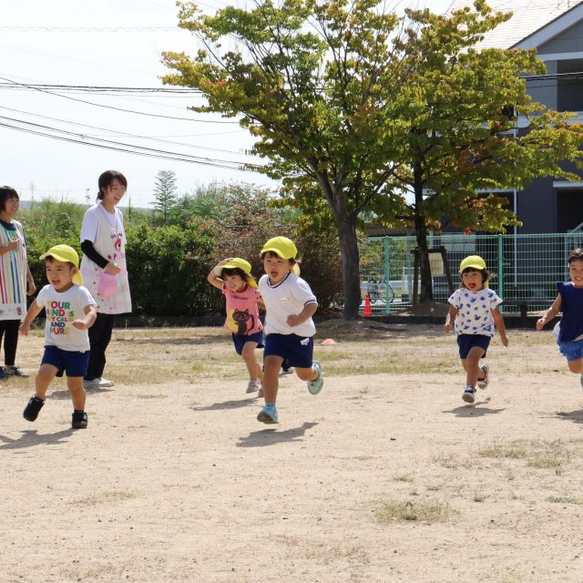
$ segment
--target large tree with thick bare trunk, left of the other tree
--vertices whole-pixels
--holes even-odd
[[[287,187],[307,181],[312,197],[328,202],[343,259],[344,315],[355,317],[357,219],[394,172],[386,114],[400,81],[389,42],[397,16],[376,0],[258,0],[215,15],[179,6],[179,26],[200,48],[194,57],[164,53],[176,70],[165,82],[201,90],[208,106],[198,111],[239,116],[257,138],[265,173]]]

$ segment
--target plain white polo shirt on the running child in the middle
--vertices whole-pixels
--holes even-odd
[[[259,281],[259,291],[266,309],[266,334],[313,336],[316,333],[312,318],[299,326],[289,326],[286,322],[290,314],[302,312],[307,303],[318,303],[310,286],[301,277],[290,271],[282,281],[271,285],[269,276],[263,275]]]

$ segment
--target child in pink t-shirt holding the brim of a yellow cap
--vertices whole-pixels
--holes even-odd
[[[247,393],[259,391],[263,373],[255,358],[255,349],[263,348],[263,324],[257,305],[263,308],[257,283],[251,276],[251,263],[230,257],[217,263],[207,281],[225,296],[227,320],[225,328],[231,332],[235,351],[242,357],[249,372]]]

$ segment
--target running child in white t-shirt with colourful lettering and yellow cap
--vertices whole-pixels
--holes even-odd
[[[83,377],[89,362],[87,329],[97,317],[96,303],[83,287],[77,251],[68,245],[56,245],[40,256],[45,260],[46,285],[30,305],[20,333],[28,335],[30,324],[45,308],[45,354],[36,374],[36,394],[26,405],[24,417],[35,421],[45,404],[48,385],[55,376],[66,373],[73,398],[73,429],[87,427]]]

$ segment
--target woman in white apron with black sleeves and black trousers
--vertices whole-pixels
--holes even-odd
[[[124,218],[118,209],[128,189],[128,180],[117,170],[107,170],[99,177],[97,203],[87,210],[81,227],[81,273],[85,285],[97,302],[97,320],[89,328],[89,364],[85,388],[112,386],[103,378],[106,350],[116,314],[131,312],[126,233]]]

